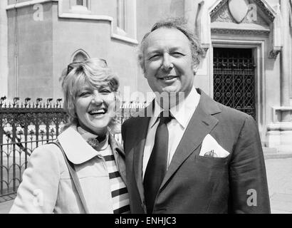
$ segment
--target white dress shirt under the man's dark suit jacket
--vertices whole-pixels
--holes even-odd
[[[182,140],[182,135],[184,135],[184,131],[189,124],[189,120],[191,120],[192,115],[194,114],[194,111],[199,104],[199,98],[199,93],[197,93],[197,90],[193,87],[187,98],[182,100],[182,102],[180,102],[178,105],[170,108],[170,113],[174,118],[170,121],[170,123],[167,123],[167,129],[169,132],[167,168],[170,166],[170,162],[172,161],[174,152],[175,150],[177,150],[177,146],[179,145],[180,140]],[[160,107],[160,105],[157,103],[157,100],[155,99],[155,108],[152,118],[150,119],[150,123],[148,125],[147,137],[144,148],[142,167],[143,180],[145,170],[150,159],[152,149],[154,147],[155,133],[159,124],[157,118],[162,111],[163,109]]]

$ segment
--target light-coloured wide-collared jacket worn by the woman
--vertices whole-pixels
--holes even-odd
[[[58,136],[68,160],[73,162],[90,213],[112,214],[108,170],[103,158],[71,126]],[[125,155],[112,135],[109,144],[122,180]],[[61,150],[54,144],[33,151],[10,213],[85,213]]]

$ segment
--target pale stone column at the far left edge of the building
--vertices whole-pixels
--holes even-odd
[[[0,1],[0,97],[8,95],[7,1]]]

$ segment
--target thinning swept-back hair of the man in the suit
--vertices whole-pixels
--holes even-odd
[[[144,48],[146,38],[152,33],[152,31],[157,30],[158,28],[176,28],[177,30],[184,33],[184,36],[187,36],[189,39],[191,51],[192,51],[192,64],[193,66],[199,66],[199,59],[204,55],[204,49],[199,43],[199,39],[187,28],[187,21],[182,18],[169,18],[162,21],[158,21],[154,26],[152,26],[150,32],[146,33],[142,38],[140,44],[140,50],[138,55],[138,61],[140,67],[145,73],[145,58],[144,58]]]

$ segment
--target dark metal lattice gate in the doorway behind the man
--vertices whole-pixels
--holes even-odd
[[[214,48],[214,100],[256,119],[252,49]]]

